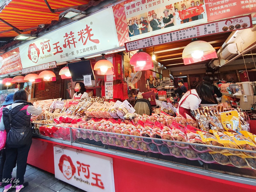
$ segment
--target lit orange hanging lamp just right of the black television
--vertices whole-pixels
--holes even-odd
[[[93,67],[93,70],[98,71],[98,75],[111,75],[114,74],[112,68],[114,68],[113,64],[106,60],[105,56],[106,54],[101,54],[101,60],[97,61]]]

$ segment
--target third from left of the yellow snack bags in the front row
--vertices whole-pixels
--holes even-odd
[[[227,131],[225,131],[224,133],[230,136],[240,148],[245,150],[252,150],[254,152],[256,151],[256,145],[255,143],[253,143],[253,141],[250,138],[239,135],[237,133],[231,133]],[[244,152],[244,153],[246,155],[249,155],[250,157],[256,157],[256,153],[254,152]]]

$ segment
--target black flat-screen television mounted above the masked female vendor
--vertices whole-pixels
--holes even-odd
[[[84,75],[91,75],[95,80],[94,71],[90,60],[83,60],[74,63],[68,63],[68,68],[72,77],[72,81],[83,81]]]

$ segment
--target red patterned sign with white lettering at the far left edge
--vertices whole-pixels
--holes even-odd
[[[0,55],[0,75],[20,71],[22,69],[19,48]]]

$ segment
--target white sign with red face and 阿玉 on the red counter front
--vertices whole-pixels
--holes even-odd
[[[54,146],[55,177],[87,192],[114,192],[113,159]]]

